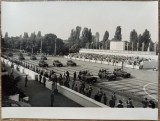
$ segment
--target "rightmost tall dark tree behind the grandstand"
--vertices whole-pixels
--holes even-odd
[[[147,51],[149,43],[151,42],[151,35],[147,29],[143,33],[143,41],[144,41],[144,51]]]

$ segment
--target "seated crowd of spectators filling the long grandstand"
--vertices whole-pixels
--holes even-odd
[[[100,55],[89,53],[70,53],[69,57],[106,61],[112,63],[126,63],[128,65],[140,65],[142,61],[150,61],[150,58],[135,57],[135,56],[122,56],[122,55]]]

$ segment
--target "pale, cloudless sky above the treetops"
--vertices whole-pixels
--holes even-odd
[[[76,26],[91,28],[92,34],[109,32],[114,37],[116,27],[122,28],[122,40],[129,41],[135,29],[143,34],[148,29],[153,42],[158,41],[158,2],[126,1],[52,1],[2,2],[2,36],[20,36],[24,32],[41,31],[68,39]]]

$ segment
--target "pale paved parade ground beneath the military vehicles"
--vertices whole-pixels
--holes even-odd
[[[14,55],[17,58],[17,55]],[[29,56],[24,56],[26,62],[33,65],[37,65],[40,60],[40,56],[36,56],[37,60],[30,60]],[[54,67],[53,60],[59,60],[63,63],[63,67]],[[99,69],[108,69],[111,72],[116,66],[98,64],[92,62],[83,62],[74,60],[77,63],[76,67],[70,67],[66,65],[67,58],[62,56],[48,56],[46,62],[49,64],[48,70],[54,70],[57,74],[63,73],[64,71],[69,71],[70,75],[73,76],[73,73],[77,73],[80,70],[89,70],[94,76],[98,77]],[[158,101],[158,72],[153,70],[137,70],[124,68],[125,71],[131,73],[131,78],[121,78],[118,77],[115,81],[108,81],[106,79],[99,79],[97,83],[93,86],[95,88],[102,87],[103,90],[109,92],[116,92],[118,95],[122,96],[124,100],[126,97],[132,97],[132,99],[141,102],[145,97],[148,99]]]

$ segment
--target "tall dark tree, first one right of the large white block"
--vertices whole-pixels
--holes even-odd
[[[133,50],[137,50],[138,35],[135,29],[130,32],[130,43],[133,44]]]

